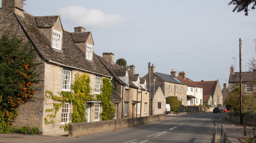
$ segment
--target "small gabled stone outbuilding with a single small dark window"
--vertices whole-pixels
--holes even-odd
[[[166,100],[160,86],[151,86],[150,99],[151,99],[151,113],[152,115],[165,114]]]

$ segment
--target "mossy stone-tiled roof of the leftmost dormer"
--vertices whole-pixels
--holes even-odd
[[[35,16],[35,21],[38,27],[53,27],[57,19],[60,20],[59,15],[55,16]],[[61,25],[62,27],[62,25]],[[63,27],[62,27],[63,28]]]

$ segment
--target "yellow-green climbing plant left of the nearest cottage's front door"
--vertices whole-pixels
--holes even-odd
[[[45,124],[53,124],[55,125],[54,118],[56,117],[56,113],[64,105],[66,102],[70,102],[73,105],[73,111],[71,115],[72,123],[80,123],[86,122],[86,101],[88,99],[95,100],[94,95],[91,95],[91,87],[90,87],[90,76],[86,73],[80,75],[75,74],[75,82],[72,86],[72,89],[75,93],[71,91],[62,91],[58,92],[59,96],[53,95],[53,93],[49,90],[45,91],[45,103],[51,104],[53,108],[46,109],[45,112],[49,113],[45,117]],[[53,100],[52,103],[48,102],[48,99]],[[50,121],[48,119],[51,119]],[[61,126],[60,128],[64,128],[65,131],[68,131],[68,124],[65,126]]]

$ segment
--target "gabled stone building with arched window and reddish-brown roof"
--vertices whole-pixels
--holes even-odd
[[[222,104],[222,92],[219,80],[196,82],[203,87],[203,104],[217,105]]]

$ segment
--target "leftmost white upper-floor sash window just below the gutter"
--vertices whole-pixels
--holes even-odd
[[[71,85],[71,70],[63,69],[61,90],[70,91],[70,85]]]

